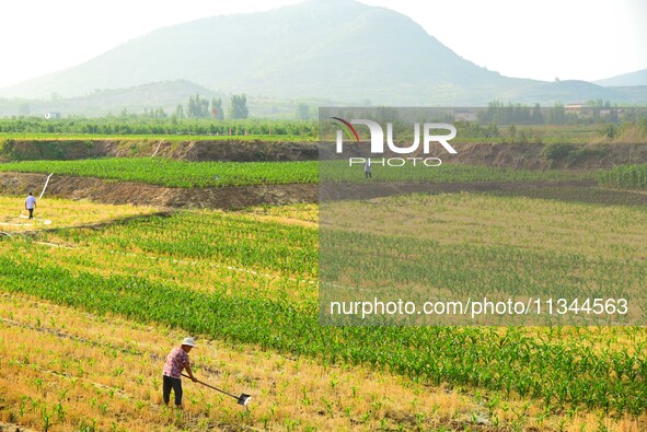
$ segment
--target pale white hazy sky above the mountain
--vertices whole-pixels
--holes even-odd
[[[8,0],[0,87],[65,69],[154,28],[298,0]],[[647,68],[645,0],[365,0],[408,15],[508,77],[598,80]]]

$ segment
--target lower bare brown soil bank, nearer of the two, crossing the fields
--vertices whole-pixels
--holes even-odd
[[[0,194],[39,195],[46,175],[0,173]],[[647,194],[601,188],[596,180],[565,182],[465,182],[465,183],[366,183],[258,185],[243,187],[170,188],[93,177],[53,176],[46,197],[89,199],[113,205],[147,205],[159,208],[240,210],[254,206],[314,203],[323,200],[372,199],[408,194],[483,192],[523,196],[602,206],[647,206]]]

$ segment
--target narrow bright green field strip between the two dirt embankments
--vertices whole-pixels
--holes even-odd
[[[348,170],[347,163],[326,162],[322,167],[323,182],[365,183],[362,166]],[[124,182],[139,182],[169,187],[224,187],[257,184],[316,183],[320,163],[302,162],[185,162],[150,157],[113,157],[81,161],[23,161],[0,164],[0,172],[54,173],[99,177]],[[510,170],[488,166],[441,165],[434,168],[412,167],[390,170],[376,166],[377,183],[425,182],[553,182],[592,180],[594,172],[566,170]]]

